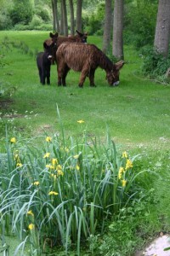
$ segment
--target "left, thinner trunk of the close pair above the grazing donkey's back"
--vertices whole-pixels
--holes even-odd
[[[103,52],[106,53],[111,43],[111,2],[105,0],[105,27],[103,37]]]

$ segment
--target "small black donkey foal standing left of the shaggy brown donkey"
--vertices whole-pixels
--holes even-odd
[[[45,84],[46,79],[47,84],[50,84],[50,69],[53,55],[53,46],[54,43],[52,43],[50,46],[48,46],[46,43],[43,43],[44,52],[39,52],[37,54],[37,68],[39,71],[41,84]]]

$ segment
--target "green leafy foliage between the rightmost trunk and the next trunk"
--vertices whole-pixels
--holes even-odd
[[[157,3],[143,1],[139,6],[129,3],[125,8],[124,40],[137,49],[153,44],[156,28]]]

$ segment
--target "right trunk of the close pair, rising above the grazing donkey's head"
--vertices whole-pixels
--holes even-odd
[[[123,0],[115,0],[113,19],[113,55],[118,60],[123,60]]]

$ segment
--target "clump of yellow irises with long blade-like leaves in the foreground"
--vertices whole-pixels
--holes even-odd
[[[137,156],[118,154],[109,135],[105,145],[89,139],[83,120],[77,122],[82,140],[76,142],[65,139],[62,126],[60,136],[46,136],[42,148],[34,139],[6,138],[7,152],[0,158],[1,229],[29,239],[31,255],[41,255],[48,241],[66,252],[76,244],[80,255],[83,241],[102,234],[111,216],[140,197],[139,176],[149,175],[133,166]]]

